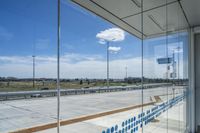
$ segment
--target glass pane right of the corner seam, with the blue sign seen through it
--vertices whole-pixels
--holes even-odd
[[[161,0],[160,0],[161,2]],[[162,1],[164,4],[167,1]],[[159,0],[157,1],[159,3]],[[149,6],[149,1],[143,1],[143,7]],[[169,84],[168,84],[168,53],[167,53],[167,8],[156,7],[143,12],[143,132],[167,132]],[[154,84],[155,87],[145,88]]]

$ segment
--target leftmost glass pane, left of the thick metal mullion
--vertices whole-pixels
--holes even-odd
[[[0,132],[56,121],[56,1],[0,1]]]

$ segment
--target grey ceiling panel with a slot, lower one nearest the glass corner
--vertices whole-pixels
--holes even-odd
[[[141,31],[141,14],[130,16],[123,20]],[[165,34],[166,28],[172,32],[187,27],[187,21],[178,2],[168,5],[167,8],[164,6],[149,10],[143,14],[143,32],[146,36]]]

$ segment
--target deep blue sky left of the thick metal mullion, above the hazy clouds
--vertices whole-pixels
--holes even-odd
[[[54,54],[56,43],[56,1],[3,0],[0,4],[0,29],[10,34],[0,38],[2,55],[29,55],[41,39],[49,39],[48,52]],[[44,9],[45,8],[45,9]],[[6,37],[6,34],[4,35]],[[9,49],[9,50],[7,50]]]

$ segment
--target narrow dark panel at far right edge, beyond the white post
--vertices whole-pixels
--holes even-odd
[[[196,128],[200,125],[200,34],[196,34],[195,38],[195,113]]]

